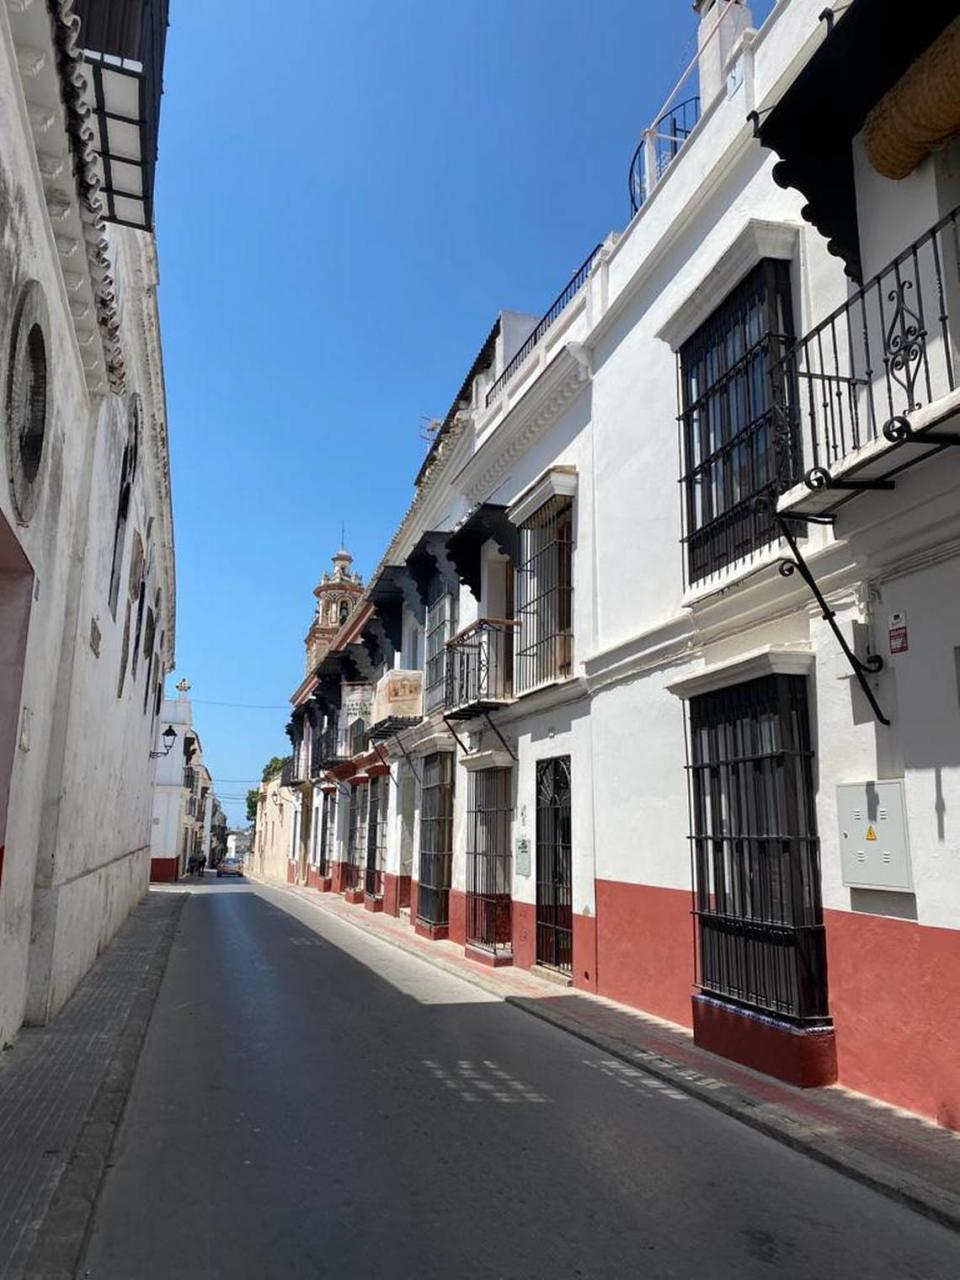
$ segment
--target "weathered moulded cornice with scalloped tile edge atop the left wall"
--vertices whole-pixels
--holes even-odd
[[[125,390],[110,243],[82,99],[73,0],[6,0],[26,120],[91,396]]]

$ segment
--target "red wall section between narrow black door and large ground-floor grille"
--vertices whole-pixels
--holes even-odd
[[[690,1027],[690,905],[689,890],[596,881],[599,993]]]

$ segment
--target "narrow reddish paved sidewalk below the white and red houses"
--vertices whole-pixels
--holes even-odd
[[[796,1151],[960,1230],[960,1134],[840,1085],[797,1089],[694,1044],[682,1027],[600,996],[562,989],[524,969],[490,969],[452,942],[419,938],[404,919],[333,893],[261,882],[643,1068]]]

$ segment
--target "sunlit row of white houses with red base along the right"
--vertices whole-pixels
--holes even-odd
[[[956,23],[698,9],[294,696],[288,879],[956,1126]]]

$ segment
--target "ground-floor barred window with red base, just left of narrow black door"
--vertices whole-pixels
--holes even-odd
[[[494,954],[512,945],[511,769],[480,769],[467,787],[467,942]]]

